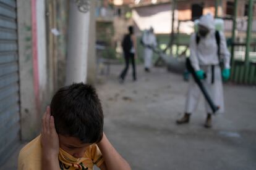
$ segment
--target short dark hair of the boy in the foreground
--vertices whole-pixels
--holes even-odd
[[[51,100],[58,134],[77,137],[84,144],[100,142],[103,136],[103,111],[95,88],[76,83],[62,87]]]

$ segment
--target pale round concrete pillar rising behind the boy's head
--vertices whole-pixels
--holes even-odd
[[[69,1],[66,85],[87,79],[90,12],[79,9],[77,2]]]

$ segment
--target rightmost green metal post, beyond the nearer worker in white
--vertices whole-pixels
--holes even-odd
[[[254,1],[249,0],[249,12],[248,12],[248,20],[247,20],[247,38],[246,38],[246,49],[245,49],[245,73],[244,73],[244,82],[248,83],[249,77],[249,54],[250,54],[250,41],[251,41],[251,33],[252,33],[252,10],[253,10]]]

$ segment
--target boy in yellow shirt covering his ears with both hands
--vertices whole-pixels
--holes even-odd
[[[95,89],[79,83],[59,89],[47,107],[41,135],[20,150],[19,170],[130,169],[103,132]]]

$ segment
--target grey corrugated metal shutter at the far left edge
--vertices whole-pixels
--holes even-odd
[[[20,139],[16,12],[16,1],[0,0],[0,162]]]

